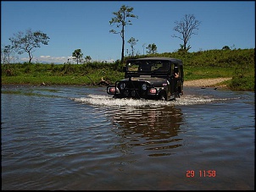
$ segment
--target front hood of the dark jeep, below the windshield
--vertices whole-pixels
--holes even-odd
[[[131,77],[132,81],[146,81],[148,82],[150,85],[153,86],[164,86],[167,85],[169,82],[168,80],[165,80],[164,78],[159,78],[159,77],[151,77],[151,76],[140,76],[140,77]],[[129,78],[126,78],[122,81],[129,81]]]

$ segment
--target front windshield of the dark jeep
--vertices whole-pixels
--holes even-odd
[[[131,61],[127,63],[127,71],[137,73],[167,73],[170,71],[170,63],[168,61]]]

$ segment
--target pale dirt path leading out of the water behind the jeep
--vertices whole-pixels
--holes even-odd
[[[199,86],[199,87],[210,87],[214,86],[225,80],[231,80],[231,78],[214,78],[214,79],[202,79],[202,80],[185,80],[184,86]]]

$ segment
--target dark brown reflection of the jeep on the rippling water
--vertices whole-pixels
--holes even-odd
[[[147,156],[170,156],[173,149],[181,146],[181,109],[165,106],[157,108],[120,108],[114,112],[114,129],[122,142],[121,151],[131,152],[141,147]],[[125,145],[124,145],[125,144]]]

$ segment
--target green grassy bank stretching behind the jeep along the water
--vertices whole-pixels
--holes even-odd
[[[231,77],[227,87],[254,91],[254,49],[172,52],[142,57],[180,58],[185,80]],[[127,59],[127,58],[125,58]],[[110,84],[124,78],[120,63],[1,64],[2,85],[97,85],[103,78]]]

